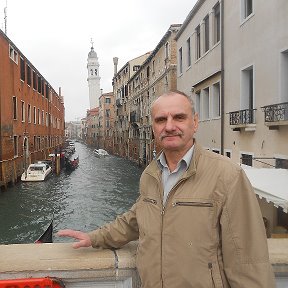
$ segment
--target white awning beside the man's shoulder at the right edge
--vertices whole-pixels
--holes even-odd
[[[288,170],[254,168],[241,164],[255,193],[288,213]]]

